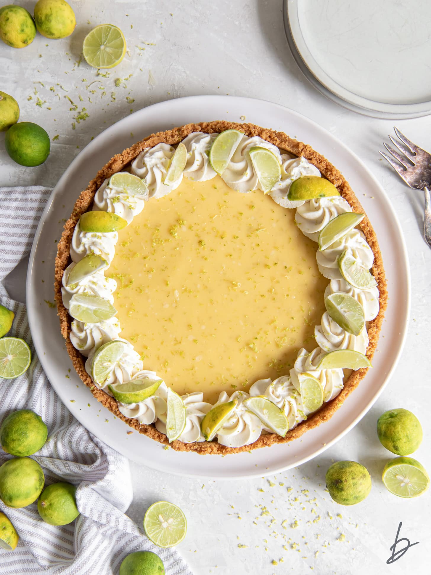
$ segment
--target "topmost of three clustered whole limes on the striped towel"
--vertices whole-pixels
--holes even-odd
[[[9,413],[0,427],[3,451],[17,457],[33,455],[44,446],[48,428],[40,415],[30,409]]]

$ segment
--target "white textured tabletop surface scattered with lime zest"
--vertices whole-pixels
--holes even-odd
[[[21,4],[30,10],[33,6],[33,2]],[[70,38],[45,41],[38,35],[30,47],[21,51],[5,45],[0,47],[0,85],[20,103],[21,120],[43,125],[51,137],[59,134],[52,143],[50,158],[37,168],[13,164],[4,151],[1,137],[0,185],[55,185],[79,151],[76,147],[82,148],[92,136],[124,117],[130,109],[182,95],[252,96],[309,116],[367,163],[393,201],[410,256],[413,290],[406,347],[387,389],[354,430],[300,469],[271,477],[275,483],[272,487],[267,479],[202,482],[168,476],[132,463],[134,501],[129,516],[140,523],[144,509],[153,501],[167,499],[178,503],[188,519],[188,535],[180,551],[199,575],[302,574],[309,573],[311,567],[319,575],[364,572],[374,575],[424,568],[428,565],[426,548],[431,542],[427,512],[430,492],[410,501],[399,500],[386,492],[380,473],[390,453],[380,446],[375,434],[376,419],[385,409],[401,406],[411,409],[420,418],[425,434],[424,444],[414,455],[431,470],[428,416],[431,251],[420,231],[422,194],[403,186],[377,154],[382,141],[387,140],[387,134],[392,131],[391,122],[338,108],[311,88],[288,52],[279,1],[220,1],[214,5],[153,0],[117,1],[106,5],[94,0],[71,2],[71,5],[78,18],[78,28]],[[107,21],[124,31],[130,56],[110,72],[109,78],[103,78],[97,77],[97,71],[85,63],[78,67],[75,62],[86,32]],[[137,45],[145,50],[140,51]],[[126,78],[129,74],[133,76],[126,81],[127,87],[115,86],[117,78]],[[95,80],[102,83],[94,83],[86,89]],[[45,87],[33,82],[43,82]],[[60,89],[57,83],[68,91]],[[51,86],[55,92],[50,90]],[[104,89],[99,90],[99,86]],[[38,94],[34,94],[34,87]],[[90,93],[93,89],[95,94]],[[106,95],[102,96],[104,91]],[[115,101],[111,101],[112,92]],[[32,99],[28,100],[30,95]],[[79,112],[86,108],[89,117],[85,121],[76,123],[77,112],[70,110],[73,106],[65,95],[76,102]],[[38,97],[42,102],[47,101],[41,107],[36,106]],[[88,102],[88,97],[93,103]],[[126,97],[134,98],[133,104],[129,104]],[[75,122],[75,130],[72,122]],[[398,121],[397,126],[411,140],[431,149],[431,118]],[[294,136],[301,138],[301,134]],[[25,268],[21,267],[21,274],[18,270],[7,283],[10,293],[21,301],[24,274]],[[356,459],[368,467],[373,489],[367,500],[351,508],[331,502],[324,492],[325,471],[331,459]],[[284,486],[279,482],[284,482]],[[288,486],[293,488],[291,492],[287,491]],[[301,493],[302,489],[308,489],[309,493]],[[294,501],[296,497],[298,501]],[[314,497],[317,498],[314,503],[306,503]],[[261,515],[266,511],[263,506],[270,515]],[[315,508],[317,514],[311,512],[311,508]],[[337,513],[343,517],[337,517]],[[318,520],[318,516],[321,519]],[[282,527],[284,519],[287,519],[287,528]],[[294,524],[295,519],[298,527],[292,528],[290,524]],[[386,565],[399,522],[403,522],[400,536],[420,543],[399,561]],[[345,534],[343,542],[337,541],[340,533]],[[299,553],[291,549],[289,539],[298,543]],[[238,544],[248,547],[238,548]],[[288,550],[283,549],[283,545]],[[401,547],[402,543],[397,549]],[[316,551],[319,551],[317,557]],[[279,561],[282,557],[283,563],[271,564],[273,559]]]

